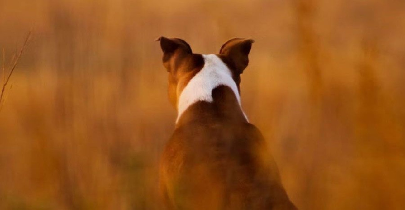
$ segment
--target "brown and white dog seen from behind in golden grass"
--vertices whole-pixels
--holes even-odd
[[[192,53],[179,38],[160,37],[176,126],[160,166],[168,209],[296,209],[260,131],[241,108],[240,74],[252,39],[233,38],[219,54]]]

